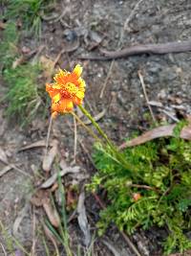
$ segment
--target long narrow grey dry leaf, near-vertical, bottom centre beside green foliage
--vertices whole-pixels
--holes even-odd
[[[85,209],[85,193],[81,192],[78,198],[77,203],[77,221],[79,227],[84,235],[84,244],[88,247],[91,244],[91,233],[90,233],[90,226],[88,223],[86,209]]]

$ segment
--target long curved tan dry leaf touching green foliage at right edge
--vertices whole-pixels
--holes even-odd
[[[143,144],[147,141],[157,139],[160,137],[174,136],[174,128],[176,125],[162,126],[159,128],[151,129],[135,139],[127,141],[118,147],[119,150],[123,150],[127,147],[133,147]],[[191,125],[184,127],[180,131],[180,138],[185,140],[191,140]]]

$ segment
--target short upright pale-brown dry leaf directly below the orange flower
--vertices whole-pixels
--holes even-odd
[[[53,165],[53,160],[57,154],[58,151],[58,141],[53,140],[53,148],[45,154],[43,163],[42,163],[42,169],[45,172],[50,172],[52,165]]]

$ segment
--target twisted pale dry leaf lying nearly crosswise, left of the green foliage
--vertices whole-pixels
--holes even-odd
[[[48,178],[44,183],[42,183],[40,188],[47,189],[47,188],[51,187],[53,185],[53,183],[56,181],[58,175],[64,176],[64,175],[68,175],[68,174],[75,174],[75,173],[78,173],[79,170],[80,169],[78,166],[66,167],[66,169],[62,170],[60,173],[54,174],[50,178]]]

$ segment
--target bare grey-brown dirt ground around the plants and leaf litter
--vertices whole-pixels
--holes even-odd
[[[153,102],[152,108],[159,121],[175,123],[181,117],[191,114],[191,53],[142,55],[114,61],[82,61],[79,57],[97,56],[100,48],[114,51],[130,45],[189,39],[190,10],[189,0],[58,1],[53,13],[63,15],[57,20],[45,20],[44,17],[40,41],[23,36],[21,47],[34,49],[43,44],[45,48],[41,55],[54,59],[62,49],[70,49],[77,44],[72,53],[61,56],[58,66],[70,69],[78,62],[83,65],[83,78],[87,82],[85,104],[94,116],[102,113],[102,118],[98,120],[99,125],[120,145],[133,131],[144,131],[148,128],[146,116],[149,110],[138,71],[141,71],[148,98]],[[125,29],[124,24],[127,25]],[[2,81],[0,86],[5,89]],[[103,86],[105,88],[101,98]],[[105,111],[102,112],[103,110]],[[39,185],[36,173],[44,175],[42,159],[45,149],[20,149],[33,142],[46,140],[48,125],[48,118],[44,122],[36,116],[30,128],[19,128],[6,120],[1,107],[0,147],[6,152],[9,163],[16,165],[24,174],[12,169],[6,175],[0,176],[0,220],[29,249],[32,246],[34,216],[36,220],[40,220],[42,216],[42,211],[32,206],[30,198]],[[83,174],[90,177],[96,172],[89,159],[93,139],[79,127],[77,136],[81,143],[77,143],[76,165],[80,166]],[[71,165],[74,162],[72,117],[60,116],[53,122],[51,140],[53,138],[58,141],[58,159],[65,159]],[[0,162],[0,169],[4,167]],[[43,178],[40,182],[42,180]],[[86,210],[94,233],[99,206],[91,196],[86,199]],[[74,237],[73,244],[82,243],[76,220],[71,221],[70,232]],[[140,255],[161,255],[159,238],[163,235],[163,230],[139,231],[131,240]],[[102,243],[103,240],[113,244],[119,254],[112,252]],[[4,244],[1,238],[0,242]],[[0,247],[0,255],[4,255],[1,249]],[[35,255],[45,255],[43,246],[38,241]],[[104,238],[96,239],[95,255],[122,256],[134,255],[134,252],[120,236],[117,228],[111,227]]]

